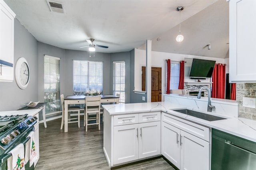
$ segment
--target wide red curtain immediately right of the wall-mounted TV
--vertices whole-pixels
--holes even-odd
[[[215,64],[212,74],[212,98],[225,98],[226,64]]]

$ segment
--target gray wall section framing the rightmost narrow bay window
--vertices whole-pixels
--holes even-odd
[[[130,103],[130,51],[110,54],[110,94],[113,94],[114,61],[125,61],[125,103]]]

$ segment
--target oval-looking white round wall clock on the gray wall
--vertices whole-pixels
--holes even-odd
[[[19,88],[25,89],[28,86],[29,78],[28,62],[23,57],[20,57],[15,65],[15,80]]]

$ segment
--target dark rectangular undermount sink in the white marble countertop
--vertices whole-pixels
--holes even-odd
[[[216,121],[216,120],[226,119],[226,118],[223,118],[223,117],[208,115],[206,113],[201,113],[201,112],[190,110],[190,109],[178,109],[178,110],[174,110],[174,111],[178,111],[180,113],[184,113],[186,115],[194,116],[194,117],[204,119],[204,120],[207,120],[207,121]]]

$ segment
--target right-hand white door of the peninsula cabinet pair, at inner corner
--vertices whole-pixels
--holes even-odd
[[[139,158],[160,154],[160,121],[139,124]]]

